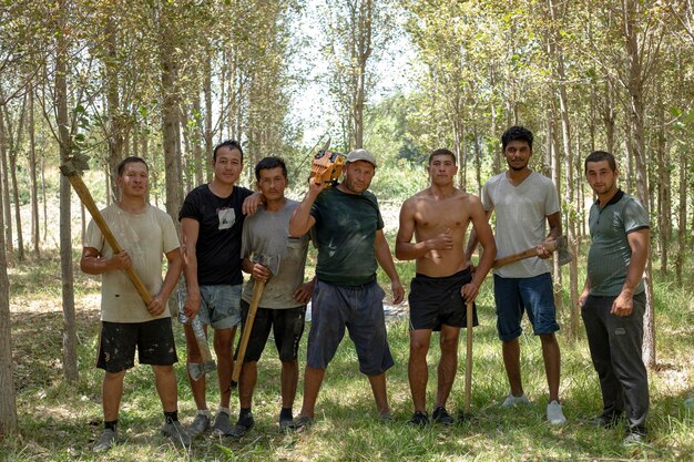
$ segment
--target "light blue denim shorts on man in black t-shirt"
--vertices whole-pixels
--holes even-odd
[[[200,312],[203,325],[229,329],[241,324],[241,284],[200,286]]]

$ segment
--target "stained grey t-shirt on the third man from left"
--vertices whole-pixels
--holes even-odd
[[[261,208],[255,215],[244,222],[241,244],[242,258],[253,255],[264,255],[278,261],[277,273],[274,274],[263,290],[259,307],[262,308],[295,308],[302,306],[294,299],[294,291],[304,283],[304,267],[308,251],[309,236],[289,237],[289,218],[298,202],[287,199],[278,212],[267,212]],[[251,302],[255,279],[251,278],[242,298]]]

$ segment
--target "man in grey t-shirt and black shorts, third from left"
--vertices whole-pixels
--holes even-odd
[[[292,423],[294,417],[292,408],[298,382],[297,352],[304,332],[306,304],[313,291],[313,280],[304,284],[308,235],[289,237],[288,233],[289,218],[298,203],[284,196],[288,184],[284,161],[279,157],[263,158],[255,166],[255,177],[265,197],[265,208],[244,222],[242,269],[251,274],[252,278],[242,295],[242,326],[246,324],[255,284],[257,281],[266,284],[238,379],[241,410],[234,428],[236,437],[251,430],[254,424],[251,405],[253,389],[257,381],[257,361],[261,359],[271,329],[282,361],[279,427],[286,430]],[[263,258],[278,261],[278,266],[272,268],[274,274],[271,274],[271,268],[256,261]]]

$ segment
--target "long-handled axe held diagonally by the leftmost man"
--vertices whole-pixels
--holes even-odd
[[[118,240],[115,240],[113,233],[111,233],[111,228],[109,228],[109,225],[106,225],[106,222],[103,219],[101,212],[99,212],[99,208],[94,203],[94,198],[92,197],[89,188],[80,176],[81,173],[85,170],[89,170],[86,157],[79,154],[70,157],[64,164],[60,166],[60,172],[65,175],[65,177],[74,188],[75,193],[78,193],[80,201],[82,201],[82,204],[84,204],[84,207],[86,207],[86,209],[91,214],[94,223],[96,224],[96,226],[99,226],[101,234],[103,234],[104,239],[106,239],[106,243],[109,243],[109,246],[111,246],[111,248],[113,249],[113,253],[120,254],[121,251],[123,251],[123,248],[119,245]],[[137,289],[137,292],[144,300],[144,304],[146,306],[150,306],[150,302],[152,302],[152,296],[147,291],[147,288],[144,286],[144,284],[142,284],[142,280],[140,279],[133,267],[131,266],[130,268],[126,268],[125,274],[135,286],[135,289]]]

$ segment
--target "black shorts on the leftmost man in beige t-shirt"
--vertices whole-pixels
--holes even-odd
[[[141,365],[171,366],[178,361],[171,318],[146,322],[101,321],[99,369],[115,373],[132,368],[135,348]]]

